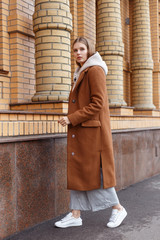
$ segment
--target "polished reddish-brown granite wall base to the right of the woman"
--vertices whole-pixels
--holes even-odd
[[[116,189],[160,173],[160,128],[113,131]]]

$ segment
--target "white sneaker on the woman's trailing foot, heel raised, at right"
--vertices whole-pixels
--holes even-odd
[[[119,225],[121,225],[126,216],[127,212],[125,208],[123,208],[122,210],[113,209],[109,222],[107,223],[107,227],[109,228],[118,227]]]

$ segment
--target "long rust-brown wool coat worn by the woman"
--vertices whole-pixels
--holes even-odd
[[[115,186],[106,76],[100,66],[81,72],[69,96],[67,188],[88,191]]]

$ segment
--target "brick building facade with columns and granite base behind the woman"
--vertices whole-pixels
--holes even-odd
[[[77,36],[108,65],[117,189],[160,173],[159,9],[159,0],[0,1],[0,237],[68,209],[58,119]]]

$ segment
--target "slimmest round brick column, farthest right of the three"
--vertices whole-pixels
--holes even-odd
[[[149,0],[133,0],[132,105],[154,109]]]

